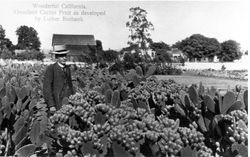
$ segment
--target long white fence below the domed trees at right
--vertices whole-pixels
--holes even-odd
[[[200,63],[200,62],[186,62],[182,69],[214,69],[221,70],[222,66],[226,67],[226,70],[247,70],[247,62],[226,62],[226,63]]]

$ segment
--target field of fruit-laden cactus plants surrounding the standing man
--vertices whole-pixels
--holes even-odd
[[[248,90],[72,68],[75,94],[48,116],[46,65],[0,69],[0,156],[247,157]],[[114,80],[114,81],[112,81]]]

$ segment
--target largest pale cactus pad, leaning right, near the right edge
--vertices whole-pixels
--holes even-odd
[[[231,91],[227,92],[223,98],[223,103],[220,105],[220,112],[225,114],[227,110],[233,105],[234,102],[235,102],[234,93]]]

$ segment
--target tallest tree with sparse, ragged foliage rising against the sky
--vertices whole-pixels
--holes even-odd
[[[142,50],[141,53],[146,55],[149,43],[152,42],[150,31],[154,30],[154,26],[147,20],[146,10],[135,7],[130,8],[129,11],[131,15],[129,15],[129,21],[126,23],[126,27],[130,31],[128,44],[138,45]]]

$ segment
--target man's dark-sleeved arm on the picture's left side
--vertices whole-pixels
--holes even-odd
[[[49,66],[46,69],[43,81],[43,96],[49,108],[55,107],[52,85],[53,85],[53,66]]]

